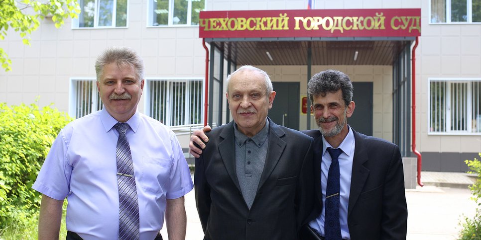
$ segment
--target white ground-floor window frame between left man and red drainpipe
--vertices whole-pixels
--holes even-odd
[[[171,85],[171,82],[190,82],[190,81],[201,81],[201,87],[199,89],[200,91],[200,94],[201,94],[201,97],[199,99],[199,102],[200,102],[200,105],[201,105],[201,109],[199,110],[201,114],[204,113],[204,104],[202,103],[203,102],[203,99],[204,99],[204,94],[205,94],[205,91],[204,91],[204,87],[205,87],[205,80],[204,78],[202,77],[189,77],[189,78],[181,78],[181,77],[172,77],[172,78],[166,78],[166,77],[162,77],[162,78],[155,78],[155,77],[148,77],[148,78],[145,78],[145,85],[144,85],[144,92],[143,92],[143,95],[144,95],[144,114],[149,116],[149,117],[152,117],[152,113],[150,112],[150,103],[151,103],[151,96],[150,96],[150,82],[151,81],[166,81],[168,84],[167,84],[167,87],[168,87],[168,95],[166,96],[166,98],[168,98],[168,100],[170,101],[170,98],[171,98],[171,90],[172,90],[172,85]],[[186,86],[187,87],[187,86]],[[186,97],[187,97],[187,94],[186,94]],[[185,100],[185,106],[188,106],[190,105],[191,101],[190,99],[184,99]],[[199,123],[189,123],[189,124],[183,124],[183,125],[171,125],[170,123],[170,118],[171,118],[171,114],[172,112],[170,111],[172,109],[171,106],[168,106],[168,108],[166,109],[166,122],[163,122],[163,124],[165,124],[167,127],[171,128],[171,129],[182,129],[184,127],[201,127],[201,126],[204,126],[204,118],[201,118],[200,119],[200,122]],[[191,109],[189,107],[189,109],[186,109],[185,110],[185,114],[184,117],[187,119],[188,117],[188,114],[190,113]],[[160,121],[160,120],[159,120]]]

